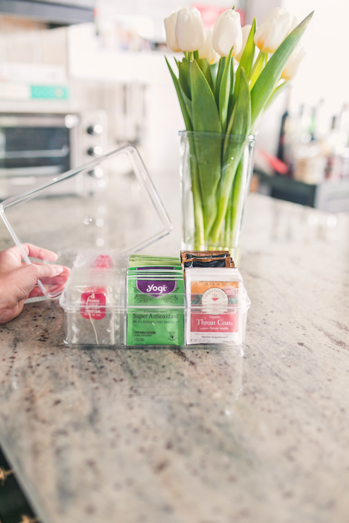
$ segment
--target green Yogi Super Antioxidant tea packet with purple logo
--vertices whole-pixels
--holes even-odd
[[[127,345],[184,344],[183,275],[127,276]]]

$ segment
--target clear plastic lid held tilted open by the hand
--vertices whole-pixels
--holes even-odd
[[[168,234],[172,225],[141,157],[124,145],[0,204],[19,248],[39,245],[72,267],[79,249],[137,252]],[[22,251],[22,249],[21,249]],[[22,251],[26,263],[30,259]],[[52,298],[41,282],[44,295]]]

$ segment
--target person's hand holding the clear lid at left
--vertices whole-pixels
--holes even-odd
[[[57,260],[57,254],[30,243],[23,243],[27,256],[45,261]],[[70,269],[64,265],[22,263],[19,248],[0,251],[0,324],[18,316],[27,298],[42,296],[37,281],[50,286],[50,292],[63,289]]]

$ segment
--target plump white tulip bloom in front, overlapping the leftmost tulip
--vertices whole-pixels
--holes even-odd
[[[196,7],[184,7],[177,14],[175,36],[182,51],[198,51],[206,41],[204,24]]]

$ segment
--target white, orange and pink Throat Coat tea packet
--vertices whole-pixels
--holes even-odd
[[[242,277],[237,268],[187,268],[186,344],[242,343],[239,297]],[[190,304],[190,305],[189,305]]]

